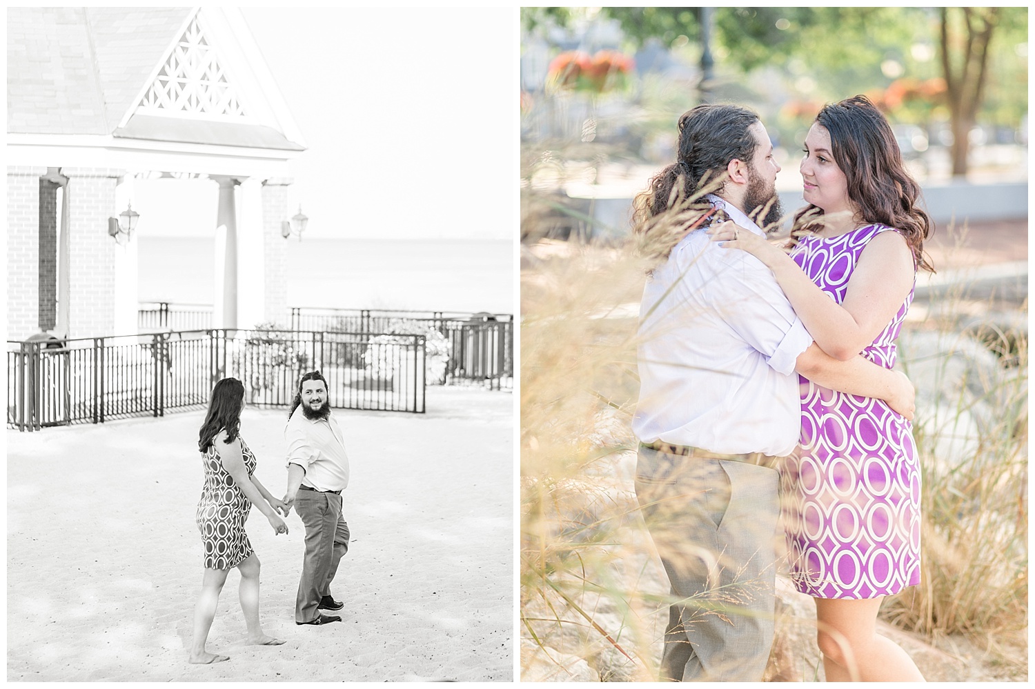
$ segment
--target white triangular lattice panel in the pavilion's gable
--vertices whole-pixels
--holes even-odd
[[[136,109],[147,115],[242,119],[237,88],[196,11]]]

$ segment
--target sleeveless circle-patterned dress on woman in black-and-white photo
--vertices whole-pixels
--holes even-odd
[[[248,477],[256,470],[256,456],[241,438],[241,452]],[[223,468],[223,458],[214,445],[202,454],[205,485],[195,520],[205,548],[205,567],[232,569],[253,553],[244,522],[252,503],[244,497],[234,478]]]

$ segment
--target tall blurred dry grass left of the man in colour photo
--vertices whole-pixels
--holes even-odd
[[[545,649],[559,679],[582,659],[593,679],[648,680],[656,605],[640,593],[650,546],[631,492],[635,318],[616,312],[638,299],[644,265],[621,248],[553,248],[522,276],[523,646]]]

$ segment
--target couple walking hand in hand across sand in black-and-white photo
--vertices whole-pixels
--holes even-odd
[[[338,561],[349,550],[349,527],[342,516],[342,490],[349,484],[349,459],[342,429],[331,415],[327,381],[319,371],[302,376],[288,413],[288,489],[274,498],[254,476],[255,453],[240,437],[244,386],[223,379],[212,389],[198,448],[205,469],[205,486],[196,521],[205,546],[205,573],[195,608],[194,641],[189,662],[210,664],[228,656],[205,649],[215,618],[219,593],[230,570],[241,573],[240,601],[249,643],[279,646],[282,639],[263,633],[259,621],[259,557],[244,532],[252,505],[269,520],[274,534],[287,534],[291,508],[305,526],[305,556],[295,599],[296,625],[341,622],[323,610],[341,610],[344,603],[330,595]],[[278,514],[278,512],[280,514]]]

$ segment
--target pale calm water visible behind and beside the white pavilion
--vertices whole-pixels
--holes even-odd
[[[134,241],[140,242],[140,301],[212,303],[214,239]],[[515,310],[508,240],[292,239],[285,250],[289,306]]]

